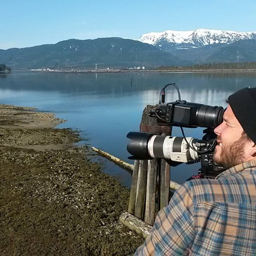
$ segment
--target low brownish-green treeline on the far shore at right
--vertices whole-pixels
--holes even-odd
[[[256,62],[242,63],[209,63],[192,66],[160,66],[156,70],[230,70],[230,69],[256,69]]]

